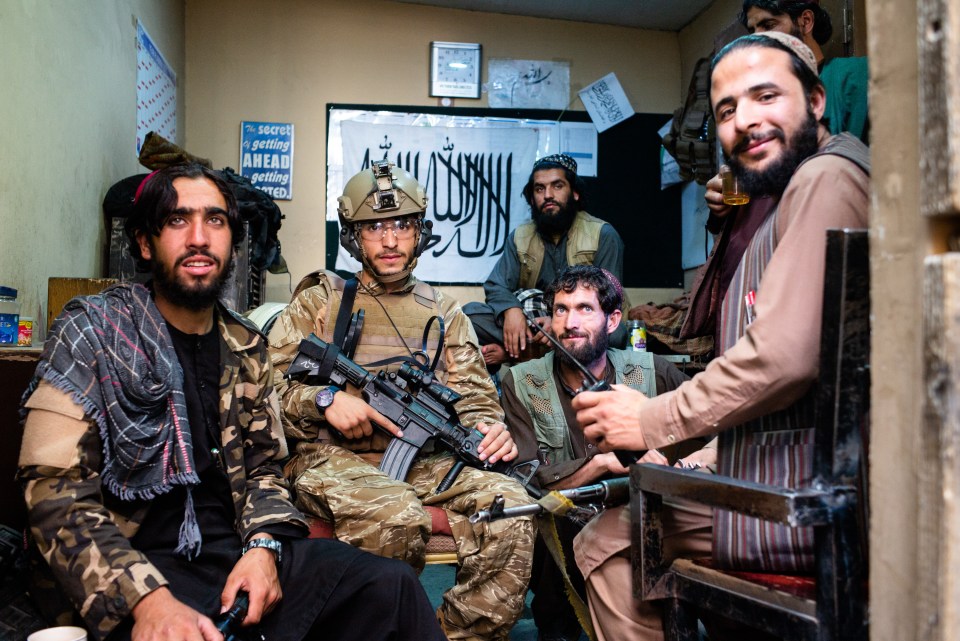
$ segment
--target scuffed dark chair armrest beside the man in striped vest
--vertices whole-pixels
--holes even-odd
[[[836,486],[774,487],[652,463],[631,466],[630,491],[687,499],[790,527],[831,523],[834,511],[854,493],[853,488]]]

